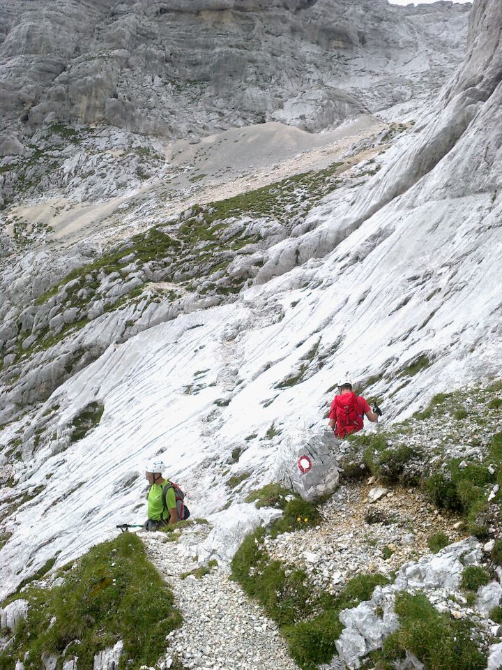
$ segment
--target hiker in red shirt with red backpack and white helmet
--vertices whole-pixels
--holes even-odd
[[[329,425],[335,438],[341,439],[362,430],[365,415],[371,422],[377,422],[378,417],[381,417],[381,410],[378,405],[372,410],[363,396],[356,396],[351,382],[344,378],[338,384],[338,395],[331,403],[329,413]]]

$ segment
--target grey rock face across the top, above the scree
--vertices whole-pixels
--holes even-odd
[[[319,131],[429,95],[460,57],[469,10],[386,0],[0,6],[4,119],[164,137],[271,119]]]

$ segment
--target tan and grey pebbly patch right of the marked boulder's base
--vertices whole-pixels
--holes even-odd
[[[439,514],[418,489],[400,486],[370,503],[373,487],[374,482],[340,486],[321,508],[323,523],[275,539],[266,537],[268,553],[304,567],[316,586],[336,593],[359,573],[388,575],[406,561],[431,553],[427,539],[433,533],[445,533],[450,542],[466,537],[459,517]],[[376,519],[381,521],[375,523]]]

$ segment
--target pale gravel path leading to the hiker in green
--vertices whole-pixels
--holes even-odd
[[[207,528],[183,530],[183,545],[204,539]],[[165,533],[142,533],[146,553],[172,588],[183,626],[167,638],[169,658],[201,670],[298,670],[277,627],[238,584],[214,567],[197,579],[180,574],[197,568],[190,552]]]

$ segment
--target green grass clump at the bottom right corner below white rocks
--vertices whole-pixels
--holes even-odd
[[[404,657],[408,650],[428,670],[485,670],[487,657],[471,639],[469,622],[450,620],[421,593],[397,594],[395,611],[400,629],[383,643],[384,661]]]

